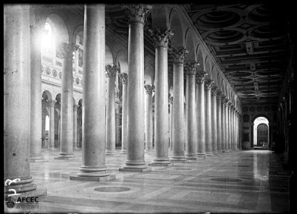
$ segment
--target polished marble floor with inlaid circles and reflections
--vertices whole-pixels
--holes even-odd
[[[59,151],[43,150],[48,162],[31,163],[38,188],[47,188],[33,213],[286,213],[288,180],[282,156],[271,151],[236,151],[145,173],[122,172],[125,155],[106,156],[115,180],[70,180],[75,160],[54,160]],[[150,163],[153,152],[145,153]],[[13,210],[9,210],[13,211]]]

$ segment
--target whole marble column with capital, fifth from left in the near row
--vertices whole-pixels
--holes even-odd
[[[173,121],[172,161],[186,161],[184,157],[184,58],[189,51],[183,47],[170,49],[173,56]]]

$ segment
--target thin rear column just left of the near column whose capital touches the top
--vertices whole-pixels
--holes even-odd
[[[119,73],[122,81],[122,150],[121,153],[127,153],[127,73]]]

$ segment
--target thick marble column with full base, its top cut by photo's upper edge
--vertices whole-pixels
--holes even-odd
[[[85,5],[83,29],[83,144],[80,173],[71,180],[115,178],[105,165],[105,5]]]

